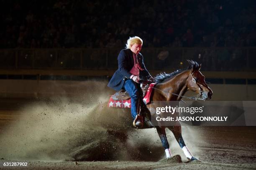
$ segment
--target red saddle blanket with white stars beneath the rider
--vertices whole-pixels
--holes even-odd
[[[151,94],[153,91],[152,87],[155,87],[156,83],[151,83],[146,91],[143,102],[148,104],[151,100]],[[128,100],[113,100],[113,95],[110,96],[108,101],[108,107],[119,107],[119,108],[131,108],[131,98]]]

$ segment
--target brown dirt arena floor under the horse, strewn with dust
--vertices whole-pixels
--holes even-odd
[[[188,162],[167,131],[175,156],[166,160],[155,129],[129,130],[120,137],[90,124],[92,117],[81,111],[92,110],[89,102],[0,101],[0,169],[256,169],[256,127],[183,126],[186,145],[202,162]],[[14,162],[28,164],[3,166]]]

